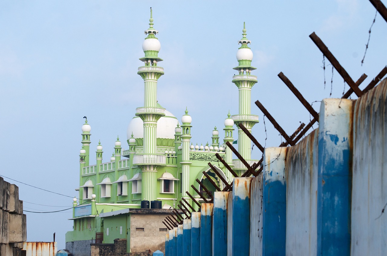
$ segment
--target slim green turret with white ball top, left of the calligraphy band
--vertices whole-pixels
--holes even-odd
[[[191,139],[191,122],[192,118],[185,109],[185,115],[182,116],[182,197],[190,201],[187,191],[190,189],[190,139]]]

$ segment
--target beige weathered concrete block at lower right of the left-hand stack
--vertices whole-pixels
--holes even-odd
[[[20,243],[27,240],[27,218],[25,214],[9,214],[10,243]]]

